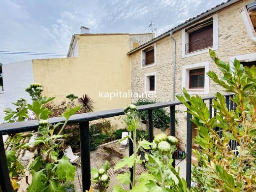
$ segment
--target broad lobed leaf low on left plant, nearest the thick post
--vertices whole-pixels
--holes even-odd
[[[75,177],[75,166],[72,165],[66,156],[63,156],[62,159],[58,160],[56,173],[58,179],[61,181],[74,181]]]

